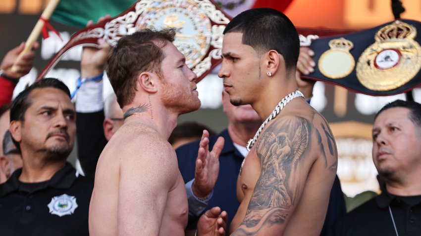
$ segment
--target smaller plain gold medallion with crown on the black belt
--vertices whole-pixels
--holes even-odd
[[[354,70],[355,60],[349,52],[354,44],[347,39],[332,39],[330,49],[321,54],[317,66],[323,76],[330,79],[341,79]]]

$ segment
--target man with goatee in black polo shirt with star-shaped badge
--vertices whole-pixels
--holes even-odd
[[[1,235],[89,235],[93,181],[66,162],[75,114],[69,89],[57,79],[35,82],[13,101],[9,130],[23,167],[0,185]]]

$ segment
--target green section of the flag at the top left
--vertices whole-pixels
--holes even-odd
[[[60,0],[51,19],[59,23],[85,28],[89,20],[97,22],[106,14],[117,16],[136,0]]]

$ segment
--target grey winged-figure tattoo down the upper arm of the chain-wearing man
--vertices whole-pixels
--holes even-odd
[[[256,233],[264,226],[285,222],[300,190],[290,177],[301,171],[301,157],[310,147],[310,134],[310,122],[301,117],[267,127],[257,146],[262,173],[242,226]]]

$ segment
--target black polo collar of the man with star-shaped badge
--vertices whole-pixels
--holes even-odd
[[[0,197],[19,190],[21,182],[18,178],[21,173],[22,168],[15,170],[9,179],[4,184],[0,185]],[[64,167],[58,170],[50,180],[40,183],[37,190],[45,189],[47,187],[68,189],[76,178],[76,170],[69,162],[66,162]]]

